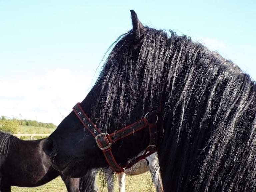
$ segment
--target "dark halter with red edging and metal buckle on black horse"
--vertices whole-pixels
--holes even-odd
[[[128,169],[132,167],[135,163],[139,162],[140,160],[144,159],[145,157],[148,157],[152,153],[157,151],[157,146],[156,146],[156,140],[157,140],[157,127],[156,127],[156,122],[158,119],[156,119],[156,122],[149,122],[149,119],[146,118],[147,114],[145,115],[144,118],[141,120],[128,125],[114,133],[108,134],[108,133],[101,133],[101,131],[97,128],[97,126],[90,120],[90,118],[85,114],[83,111],[82,107],[80,106],[80,103],[77,103],[73,107],[73,111],[75,112],[76,116],[79,118],[79,120],[82,122],[82,124],[87,128],[90,133],[95,137],[96,143],[98,147],[102,150],[106,161],[108,162],[109,166],[112,167],[112,169],[116,173],[122,173],[124,172],[125,169]],[[156,115],[158,118],[158,116]],[[127,137],[131,134],[134,134],[135,132],[143,129],[143,128],[148,128],[149,133],[150,133],[150,142],[149,145],[147,146],[145,153],[133,161],[129,162],[126,164],[126,166],[121,166],[119,165],[111,150],[111,145],[114,144],[116,141]]]

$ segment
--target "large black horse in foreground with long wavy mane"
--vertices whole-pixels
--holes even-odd
[[[120,128],[151,112],[158,114],[165,192],[253,192],[255,82],[202,44],[143,26],[131,13],[133,29],[114,43],[97,82],[80,104],[80,114],[87,114],[94,129],[88,132],[93,124],[85,128],[72,111],[45,142],[54,167],[74,177],[108,166],[92,136],[99,132],[96,127],[119,134]],[[148,145],[149,130],[116,142],[104,138],[117,164],[124,165]]]

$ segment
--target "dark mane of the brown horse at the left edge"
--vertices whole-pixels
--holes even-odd
[[[0,131],[0,155],[6,157],[10,148],[16,146],[17,140],[17,137]]]

